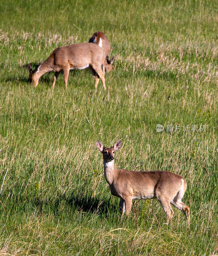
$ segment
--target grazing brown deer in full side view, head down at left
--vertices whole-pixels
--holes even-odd
[[[95,88],[97,89],[99,78],[105,86],[105,75],[102,71],[103,50],[97,44],[81,43],[71,44],[64,47],[56,48],[51,55],[41,65],[34,70],[28,63],[29,81],[35,87],[38,85],[39,78],[46,72],[54,71],[55,76],[52,83],[52,89],[61,71],[64,73],[64,84],[67,89],[67,80],[71,69],[85,69],[95,78]],[[112,62],[113,63],[113,62]],[[108,64],[112,66],[112,63]]]

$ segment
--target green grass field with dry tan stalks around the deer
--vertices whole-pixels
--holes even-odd
[[[1,1],[0,256],[218,255],[217,6]],[[27,63],[99,30],[115,55],[105,92],[87,70],[72,71],[67,90],[63,75],[51,90],[53,73],[30,86]],[[117,168],[183,175],[190,226],[175,207],[167,226],[157,200],[121,218],[96,148],[120,139]]]

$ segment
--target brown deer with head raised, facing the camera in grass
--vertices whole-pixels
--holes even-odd
[[[157,199],[167,217],[167,224],[174,212],[171,205],[181,210],[190,220],[190,208],[182,202],[187,185],[183,176],[168,171],[128,171],[117,169],[114,165],[114,154],[121,148],[121,140],[107,148],[97,140],[97,149],[103,155],[105,180],[111,194],[120,198],[120,212],[128,216],[132,200]]]

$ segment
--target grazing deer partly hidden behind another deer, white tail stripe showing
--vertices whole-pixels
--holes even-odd
[[[92,37],[89,39],[89,43],[97,44],[102,47],[102,68],[103,72],[110,72],[113,69],[114,56],[109,60],[108,54],[111,50],[111,44],[105,34],[102,31],[95,32]]]

